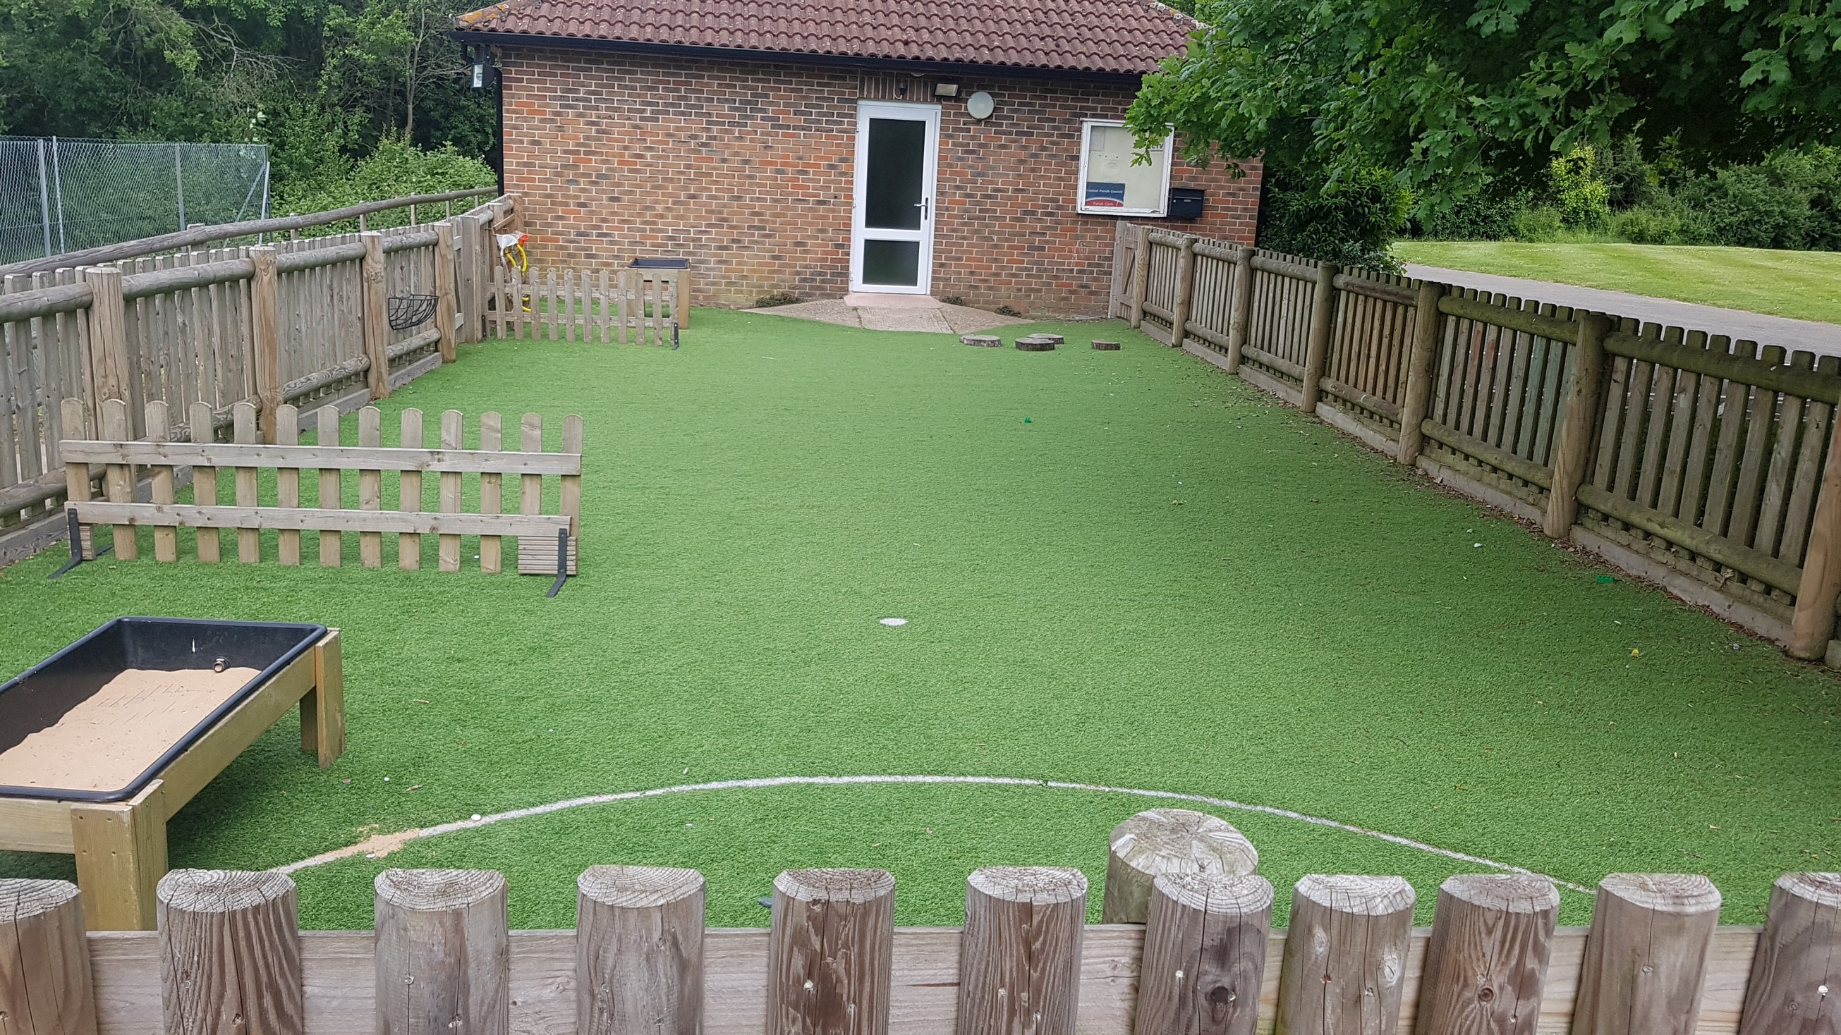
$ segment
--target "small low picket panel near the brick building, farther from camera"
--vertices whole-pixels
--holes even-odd
[[[690,320],[685,269],[492,267],[486,326],[501,339],[676,344]]]

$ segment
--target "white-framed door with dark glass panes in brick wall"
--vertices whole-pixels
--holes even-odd
[[[851,291],[932,291],[937,162],[939,105],[856,103]]]

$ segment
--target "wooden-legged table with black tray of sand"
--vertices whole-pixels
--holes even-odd
[[[166,820],[296,702],[330,766],[339,630],[114,619],[0,685],[0,849],[74,855],[90,930],[151,930]]]

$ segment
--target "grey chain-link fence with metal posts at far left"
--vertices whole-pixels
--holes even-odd
[[[267,215],[263,144],[0,136],[0,263]]]

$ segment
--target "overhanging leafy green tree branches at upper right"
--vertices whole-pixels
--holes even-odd
[[[1130,123],[1324,190],[1394,169],[1419,212],[1535,186],[1581,145],[1694,168],[1841,140],[1841,0],[1202,0]]]

